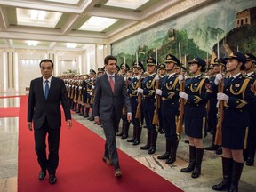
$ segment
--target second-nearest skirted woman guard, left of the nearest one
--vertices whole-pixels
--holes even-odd
[[[181,172],[192,172],[192,178],[201,174],[201,164],[204,156],[203,139],[206,118],[206,85],[209,80],[204,78],[205,61],[195,58],[188,62],[189,73],[193,75],[185,84],[185,92],[180,92],[180,98],[186,100],[184,108],[185,133],[189,140],[189,164]],[[183,80],[183,76],[179,76]]]

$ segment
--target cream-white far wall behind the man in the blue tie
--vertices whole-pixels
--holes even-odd
[[[90,45],[83,52],[0,49],[0,93],[25,92],[30,81],[41,76],[40,60],[53,61],[53,76],[70,69],[87,74],[91,68],[97,71],[104,66],[106,52],[106,45]]]

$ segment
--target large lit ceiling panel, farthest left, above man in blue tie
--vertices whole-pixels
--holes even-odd
[[[55,28],[62,13],[17,8],[18,25]]]

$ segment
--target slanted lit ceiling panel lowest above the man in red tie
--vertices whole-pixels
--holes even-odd
[[[103,31],[105,28],[116,23],[116,19],[111,18],[103,18],[103,17],[95,17],[92,16],[89,20],[87,20],[79,30],[88,30],[88,31]]]

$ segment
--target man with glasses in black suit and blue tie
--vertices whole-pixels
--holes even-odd
[[[56,169],[59,164],[60,143],[60,102],[65,112],[66,121],[71,127],[71,115],[65,84],[60,78],[52,76],[52,60],[42,60],[39,64],[42,77],[31,81],[28,95],[28,129],[32,131],[36,143],[37,161],[40,164],[39,180],[44,180],[46,169],[50,184],[55,184]],[[46,156],[45,138],[48,133],[49,156]]]

